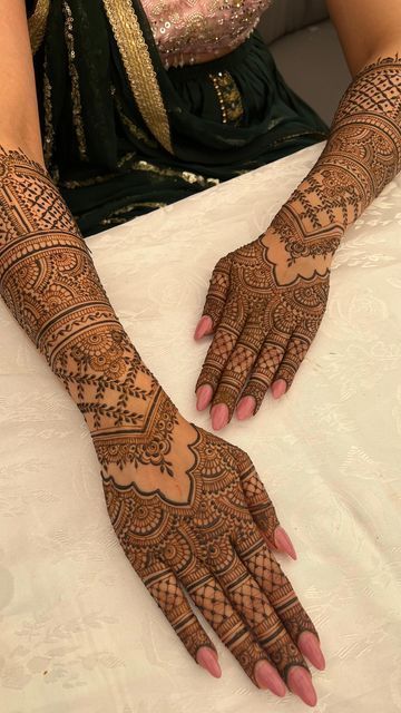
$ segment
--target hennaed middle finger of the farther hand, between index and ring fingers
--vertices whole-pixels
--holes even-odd
[[[222,370],[212,403],[216,407],[224,403],[228,410],[228,420],[233,416],[236,402],[257,359],[262,343],[263,332],[261,329],[246,324]]]

